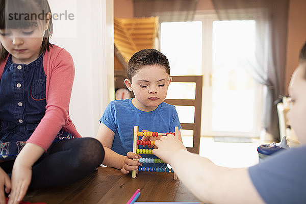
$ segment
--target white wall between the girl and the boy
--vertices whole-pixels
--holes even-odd
[[[83,137],[94,137],[99,118],[114,99],[113,0],[49,0],[49,4],[54,14],[71,14],[70,19],[53,18],[51,42],[73,57],[70,117]]]

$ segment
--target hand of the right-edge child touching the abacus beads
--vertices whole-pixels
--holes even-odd
[[[171,165],[172,157],[175,157],[175,153],[179,150],[187,150],[183,143],[176,139],[173,135],[169,134],[165,137],[161,137],[155,141],[157,149],[152,150],[152,154],[161,158],[165,163]]]

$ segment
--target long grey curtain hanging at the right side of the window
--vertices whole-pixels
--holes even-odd
[[[265,85],[263,123],[279,141],[276,105],[285,94],[285,65],[289,0],[212,0],[220,20],[256,20],[256,63],[246,67]]]

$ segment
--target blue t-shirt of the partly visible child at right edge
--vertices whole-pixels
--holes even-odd
[[[306,146],[276,152],[249,167],[249,175],[266,203],[306,203]]]

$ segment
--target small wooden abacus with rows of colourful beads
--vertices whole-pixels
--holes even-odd
[[[147,140],[139,140],[138,137],[140,136],[146,136],[146,137],[157,137],[157,136],[166,136],[168,134],[172,134],[174,136],[179,135],[179,127],[175,127],[175,133],[157,133],[157,132],[138,132],[138,126],[134,126],[134,140],[133,140],[133,152],[136,154],[141,155],[151,155],[152,149],[139,149],[138,145],[154,145],[154,141],[147,141]],[[154,158],[140,158],[134,159],[139,161],[140,163],[159,163],[164,164],[164,162],[161,159],[154,159]],[[169,169],[168,167],[138,167],[138,170],[132,171],[132,177],[135,178],[137,175],[137,171],[151,171],[151,172],[173,172],[172,169]],[[176,174],[174,173],[174,180],[177,179]]]

